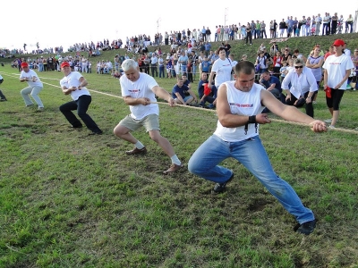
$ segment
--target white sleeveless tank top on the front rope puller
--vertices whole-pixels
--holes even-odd
[[[251,116],[262,112],[264,106],[261,105],[260,92],[265,88],[262,88],[261,85],[253,84],[249,92],[243,92],[234,88],[234,81],[228,81],[225,84],[227,102],[230,105],[231,113]],[[246,131],[245,126],[226,128],[221,125],[220,121],[217,121],[217,130],[215,130],[214,135],[229,142],[241,141],[259,135],[259,124],[257,129],[255,124],[248,124],[248,130]]]

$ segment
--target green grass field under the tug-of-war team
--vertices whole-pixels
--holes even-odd
[[[84,74],[90,89],[115,95],[92,92],[89,113],[104,135],[88,137],[88,130],[71,130],[58,110],[70,100],[59,88],[61,72],[39,73],[46,111],[37,113],[24,107],[18,71],[0,71],[8,98],[0,103],[0,267],[358,267],[358,133],[315,134],[277,121],[260,127],[275,171],[319,220],[305,237],[233,159],[223,164],[235,179],[213,195],[213,183],[186,170],[162,175],[170,160],[144,130],[134,135],[148,154],[125,155],[132,145],[112,132],[129,113],[115,97],[118,80]],[[158,82],[170,90],[175,80]],[[318,119],[329,117],[323,96]],[[346,92],[337,127],[358,126],[357,104],[358,92]],[[183,163],[216,122],[209,110],[160,105],[162,135]]]

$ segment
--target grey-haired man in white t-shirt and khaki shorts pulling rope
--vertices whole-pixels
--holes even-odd
[[[120,78],[122,96],[125,104],[129,105],[131,114],[127,115],[115,126],[115,136],[123,138],[134,145],[134,148],[131,151],[126,151],[125,154],[145,154],[147,153],[147,148],[131,134],[131,131],[138,130],[141,126],[144,126],[149,132],[149,137],[157,142],[166,152],[166,155],[171,158],[171,166],[163,173],[176,172],[183,167],[183,164],[175,155],[170,142],[160,135],[159,106],[156,95],[165,99],[170,106],[175,105],[175,100],[169,92],[158,86],[154,78],[140,72],[138,63],[132,59],[125,60],[122,63],[122,69],[124,71],[124,75]]]

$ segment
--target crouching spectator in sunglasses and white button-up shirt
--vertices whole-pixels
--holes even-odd
[[[290,84],[291,88],[289,88]],[[306,105],[306,114],[313,117],[312,99],[318,90],[317,82],[312,71],[304,66],[302,59],[294,60],[294,69],[286,74],[281,88],[287,94],[286,105],[299,106],[302,102]]]

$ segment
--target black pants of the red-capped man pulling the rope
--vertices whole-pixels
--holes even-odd
[[[86,127],[92,132],[101,132],[98,128],[98,125],[87,113],[89,109],[92,97],[89,95],[82,95],[76,101],[72,101],[60,106],[61,113],[64,113],[64,117],[67,121],[72,124],[72,127],[80,127],[81,121],[72,113],[72,111],[77,110],[77,114],[80,116],[81,120],[85,123]]]

